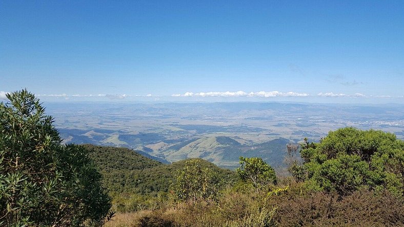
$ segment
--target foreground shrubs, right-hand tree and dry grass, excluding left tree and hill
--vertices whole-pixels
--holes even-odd
[[[201,191],[216,189],[215,178],[197,168],[201,160],[187,161],[173,181],[181,181],[171,188],[174,195],[117,213],[107,226],[404,225],[404,146],[393,134],[344,128],[318,143],[305,139],[300,149],[288,146],[290,177],[276,177],[260,158],[240,157],[238,180],[207,197]]]

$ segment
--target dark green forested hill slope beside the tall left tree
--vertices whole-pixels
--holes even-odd
[[[90,151],[90,157],[103,175],[104,187],[112,195],[134,193],[155,196],[158,192],[167,193],[175,174],[183,169],[186,161],[166,164],[128,148],[82,146]],[[204,168],[212,169],[226,182],[237,178],[233,171],[221,169],[203,159],[200,161]]]

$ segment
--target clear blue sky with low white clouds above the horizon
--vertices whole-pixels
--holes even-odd
[[[0,98],[404,103],[403,1],[1,1]]]

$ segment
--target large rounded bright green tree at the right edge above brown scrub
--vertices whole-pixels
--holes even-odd
[[[308,185],[351,194],[360,188],[404,192],[404,141],[392,133],[343,128],[300,150]]]

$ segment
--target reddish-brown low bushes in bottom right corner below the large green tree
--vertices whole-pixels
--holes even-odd
[[[403,202],[388,191],[362,189],[345,197],[335,192],[289,192],[269,204],[278,208],[278,226],[402,226]]]

